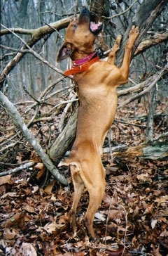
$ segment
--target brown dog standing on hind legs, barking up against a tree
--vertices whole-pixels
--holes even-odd
[[[120,68],[114,65],[119,36],[107,61],[99,60],[94,52],[94,40],[102,30],[102,23],[94,24],[90,12],[83,8],[77,20],[69,24],[65,42],[59,50],[57,61],[70,57],[73,63],[65,75],[73,75],[80,101],[76,140],[69,158],[59,163],[69,165],[73,179],[73,204],[69,221],[76,232],[76,208],[84,186],[90,195],[85,214],[85,226],[94,238],[94,215],[102,202],[105,190],[105,173],[101,153],[106,132],[111,127],[117,107],[117,87],[127,83],[132,48],[139,35],[138,27],[132,27]]]

